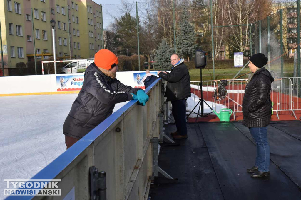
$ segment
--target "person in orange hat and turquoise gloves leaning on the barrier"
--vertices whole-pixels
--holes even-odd
[[[115,78],[117,64],[113,52],[101,49],[85,70],[82,89],[63,126],[67,149],[109,117],[116,103],[136,99],[144,106],[147,102],[144,90],[123,85]]]

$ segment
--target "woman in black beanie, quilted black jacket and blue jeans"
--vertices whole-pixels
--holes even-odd
[[[262,53],[250,57],[248,66],[254,75],[245,88],[243,99],[244,119],[242,124],[249,127],[257,146],[255,165],[247,169],[247,172],[251,172],[251,176],[254,178],[270,175],[270,146],[267,131],[272,115],[270,92],[274,78],[263,67],[267,64],[267,61],[268,58]]]

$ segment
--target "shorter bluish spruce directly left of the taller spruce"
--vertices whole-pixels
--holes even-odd
[[[154,63],[155,70],[170,70],[170,56],[172,53],[172,48],[167,43],[166,38],[163,38],[162,42],[158,46],[158,50],[156,50],[156,62]]]

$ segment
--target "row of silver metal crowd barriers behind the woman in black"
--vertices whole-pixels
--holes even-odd
[[[235,113],[242,112],[242,100],[244,98],[244,89],[248,83],[247,79],[230,79],[227,80],[226,86],[227,95],[225,99],[216,101],[213,98],[214,90],[218,87],[220,80],[203,81],[203,99],[209,104],[209,106],[219,113],[221,108],[230,108],[233,111],[235,120]],[[191,93],[193,94],[190,102],[190,110],[194,108],[200,98],[200,81],[191,81]],[[295,110],[301,110],[301,77],[294,78],[275,78],[271,85],[270,97],[274,104],[273,111],[278,113],[281,111],[292,112],[295,118]],[[203,113],[211,113],[211,109],[204,104]],[[196,112],[198,108],[195,109]]]

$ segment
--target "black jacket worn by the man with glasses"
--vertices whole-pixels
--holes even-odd
[[[170,73],[159,73],[159,77],[167,81],[166,101],[181,100],[191,96],[190,76],[184,62],[172,67]]]

